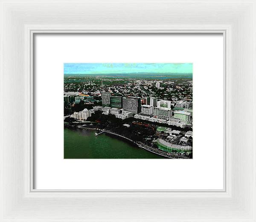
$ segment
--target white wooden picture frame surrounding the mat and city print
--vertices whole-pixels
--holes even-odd
[[[0,221],[256,221],[255,0],[2,0],[0,6]],[[223,33],[225,189],[33,190],[32,37],[38,32]]]

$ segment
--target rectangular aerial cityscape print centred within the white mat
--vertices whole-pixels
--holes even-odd
[[[64,159],[192,159],[192,63],[64,63]]]

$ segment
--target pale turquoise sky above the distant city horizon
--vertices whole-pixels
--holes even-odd
[[[64,63],[64,74],[192,73],[192,63]]]

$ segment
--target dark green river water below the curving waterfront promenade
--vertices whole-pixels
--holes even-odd
[[[163,159],[119,137],[64,128],[64,159]]]

